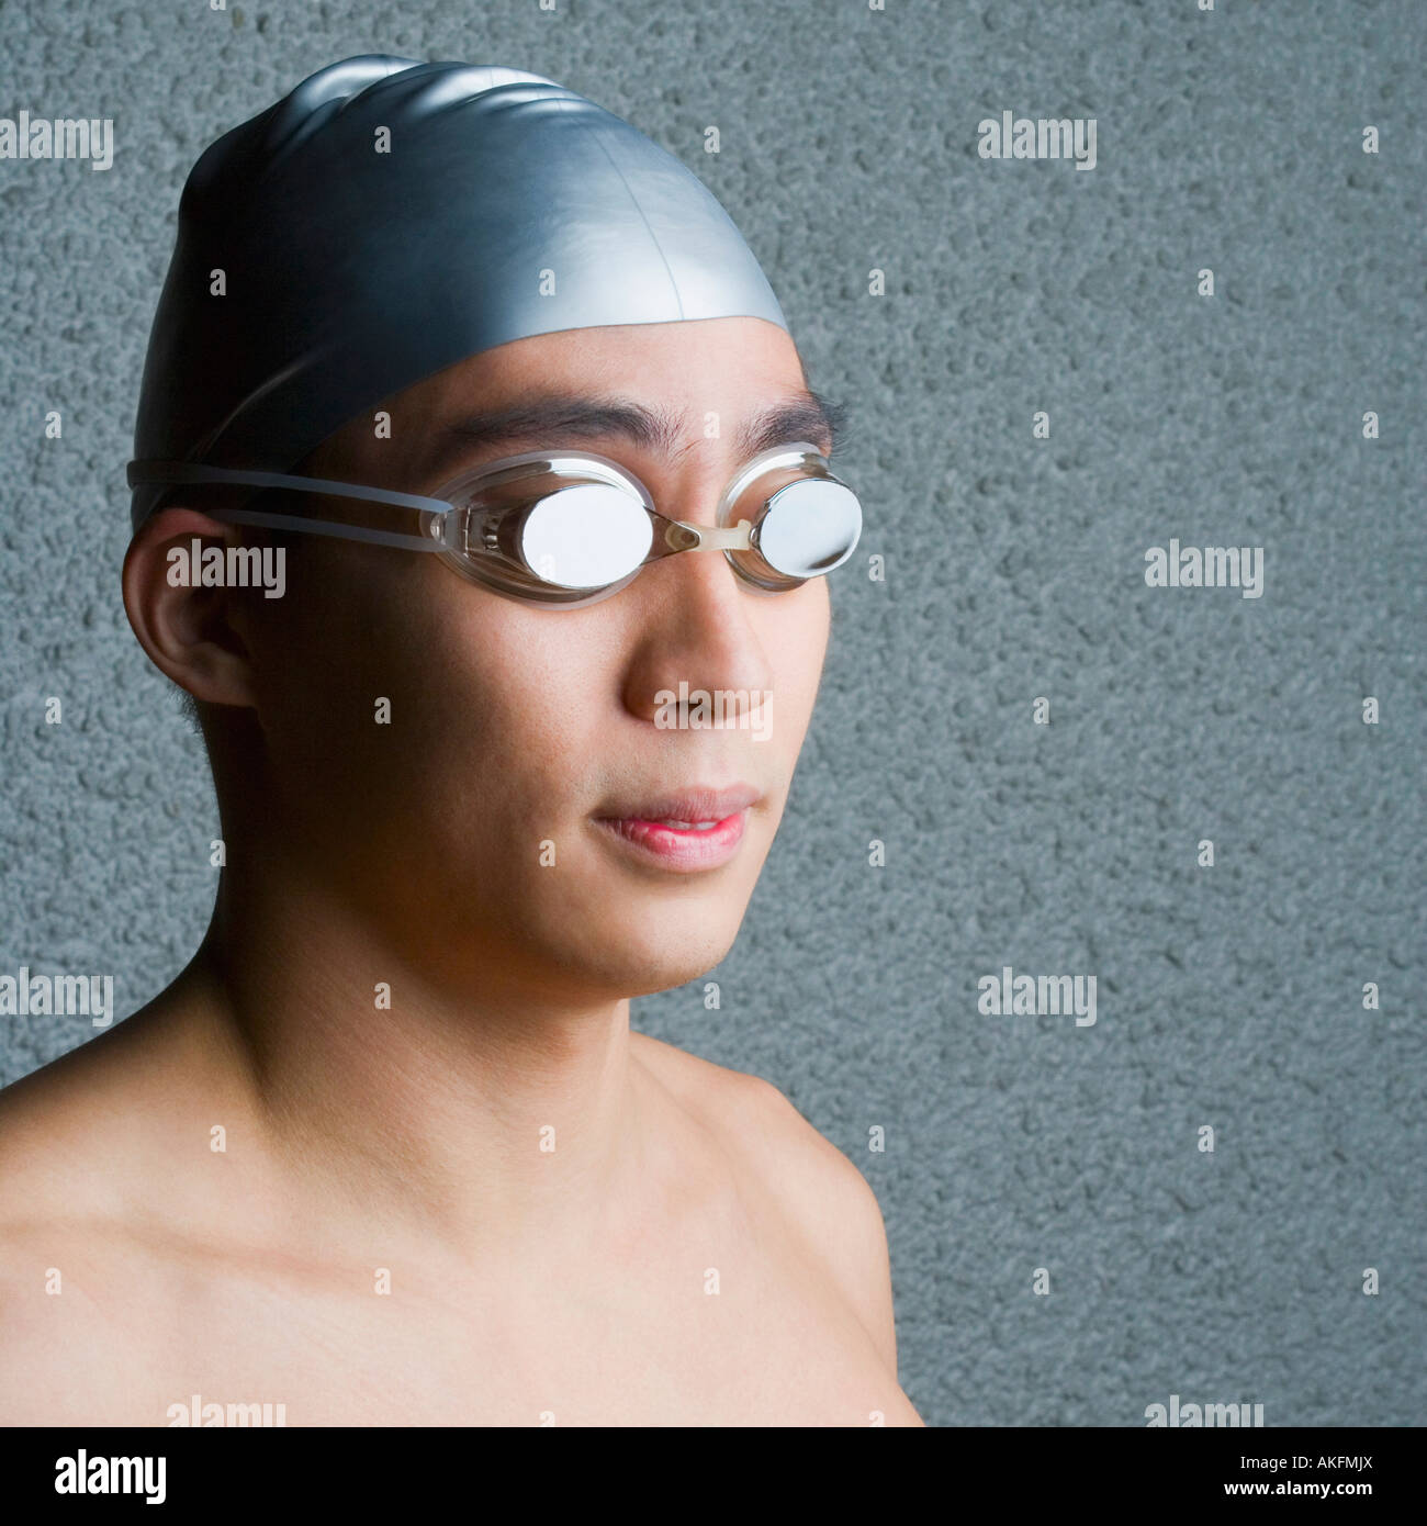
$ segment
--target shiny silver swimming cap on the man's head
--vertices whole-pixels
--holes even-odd
[[[493,345],[740,316],[788,328],[723,208],[627,122],[519,69],[348,58],[194,165],[134,458],[288,472]],[[172,493],[134,488],[134,528]]]

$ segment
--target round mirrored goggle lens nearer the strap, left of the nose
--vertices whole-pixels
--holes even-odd
[[[556,588],[606,588],[639,568],[653,520],[629,493],[603,482],[560,488],[520,519],[520,559]]]

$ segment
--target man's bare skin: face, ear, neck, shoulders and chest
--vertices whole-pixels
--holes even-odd
[[[459,465],[583,446],[711,523],[736,426],[803,386],[757,319],[537,336],[304,472],[430,493],[443,420],[618,395],[679,415],[673,449]],[[264,601],[171,588],[163,551],[192,534],[238,531],[165,510],[125,603],[203,702],[227,862],[174,984],[0,1093],[0,1424],[163,1425],[192,1395],[288,1425],[920,1424],[858,1169],[766,1082],[629,1027],[630,996],[733,945],[817,696],[824,581],[765,595],[690,554],[549,610],[302,537]],[[681,679],[772,691],[771,739],[658,729]],[[719,868],[650,867],[595,819],[736,781],[759,800]]]

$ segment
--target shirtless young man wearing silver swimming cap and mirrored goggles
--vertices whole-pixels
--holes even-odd
[[[629,1029],[777,830],[829,430],[717,203],[559,85],[348,60],[200,160],[124,597],[224,867],[172,986],[0,1096],[0,1421],[920,1424],[856,1167]]]

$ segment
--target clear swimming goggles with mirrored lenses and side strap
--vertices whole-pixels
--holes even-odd
[[[632,472],[586,452],[533,450],[487,462],[433,497],[174,461],[130,462],[128,482],[292,488],[401,508],[415,513],[417,534],[243,508],[211,517],[435,552],[491,592],[563,607],[607,598],[649,563],[682,551],[722,551],[743,581],[780,594],[841,566],[862,533],[856,494],[807,441],[740,467],[714,526],[661,514]]]

